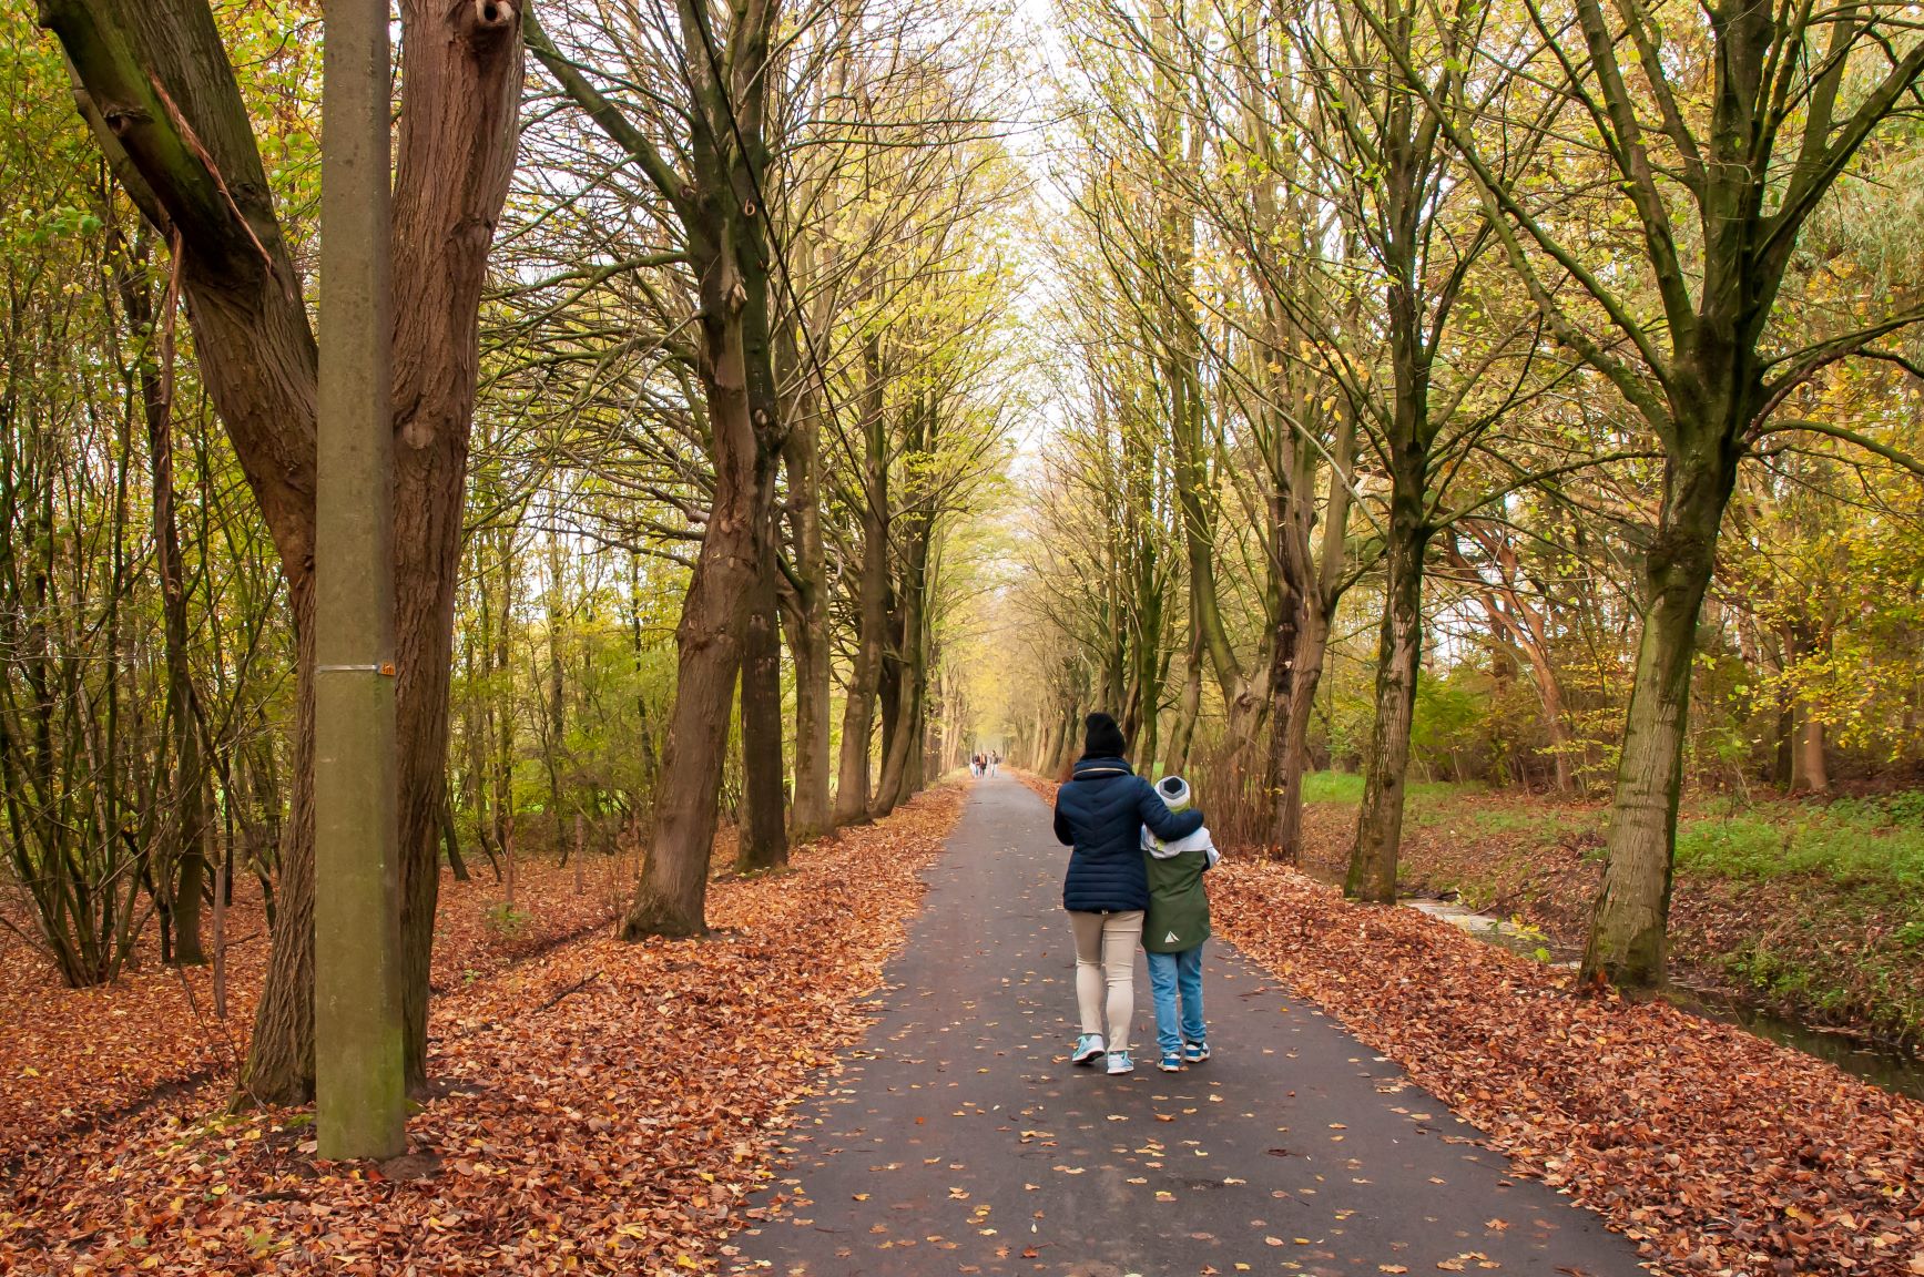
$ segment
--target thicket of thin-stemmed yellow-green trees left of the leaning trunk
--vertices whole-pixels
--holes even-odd
[[[164,388],[198,781],[221,814],[190,833],[262,877],[285,823],[292,635],[185,321],[162,358],[164,240],[108,179],[33,6],[0,0],[0,862],[40,948],[89,985],[119,971],[156,910],[171,917],[189,833],[165,781],[146,413]]]

